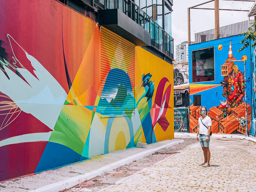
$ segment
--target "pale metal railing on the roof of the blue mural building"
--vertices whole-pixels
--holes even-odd
[[[253,22],[254,20],[246,20],[243,22],[219,27],[219,38],[230,37],[233,35],[238,35],[240,33],[247,32],[248,27],[251,27]],[[211,41],[214,39],[215,39],[215,29],[210,29],[207,31],[202,31],[200,33],[195,33],[195,43]]]

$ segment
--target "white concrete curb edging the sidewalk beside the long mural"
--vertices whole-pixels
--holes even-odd
[[[116,161],[114,163],[111,163],[109,165],[103,166],[99,169],[88,172],[86,174],[82,174],[82,175],[79,175],[79,176],[76,176],[76,177],[68,178],[68,179],[63,180],[63,181],[59,181],[59,182],[56,182],[56,183],[53,183],[53,184],[49,184],[49,185],[46,185],[44,187],[40,187],[40,188],[37,188],[35,190],[32,190],[30,192],[59,192],[59,191],[64,190],[64,189],[74,187],[75,185],[78,185],[80,182],[90,180],[91,178],[97,177],[97,176],[99,176],[99,175],[101,175],[105,172],[114,170],[114,169],[116,169],[120,166],[127,165],[127,164],[132,163],[133,161],[142,159],[142,158],[144,158],[148,155],[151,155],[151,154],[155,153],[155,151],[158,151],[162,148],[172,147],[176,144],[180,144],[180,143],[184,143],[184,142],[185,142],[184,140],[180,140],[180,141],[168,143],[168,144],[165,144],[163,146],[153,148],[153,149],[150,149],[150,150],[147,150],[147,151],[143,151],[141,153],[138,153],[138,154],[132,155],[130,157],[121,159],[121,160]]]

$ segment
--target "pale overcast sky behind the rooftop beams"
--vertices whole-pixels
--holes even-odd
[[[174,50],[176,45],[188,41],[188,7],[204,3],[208,0],[173,0],[172,12],[172,37],[174,38]],[[253,2],[219,0],[219,7],[226,9],[250,10]],[[201,8],[214,8],[214,1]],[[220,11],[220,27],[248,20],[248,12],[245,11]],[[191,41],[195,39],[195,33],[214,29],[214,10],[190,10]],[[250,18],[254,19],[254,18]],[[175,55],[175,54],[174,54]],[[175,59],[175,58],[174,58]]]

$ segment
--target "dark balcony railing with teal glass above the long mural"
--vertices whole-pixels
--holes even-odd
[[[173,58],[173,38],[131,0],[94,0],[102,9],[119,9],[151,34],[151,45]]]

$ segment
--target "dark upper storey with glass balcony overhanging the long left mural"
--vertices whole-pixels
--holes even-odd
[[[172,0],[59,1],[133,44],[143,46],[149,52],[172,63]]]

